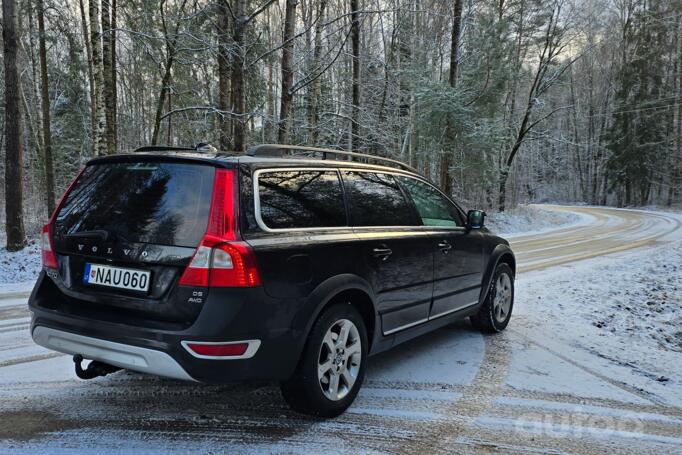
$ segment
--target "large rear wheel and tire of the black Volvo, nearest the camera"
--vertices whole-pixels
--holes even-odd
[[[310,331],[293,377],[280,384],[284,400],[304,414],[326,418],[342,414],[362,386],[367,346],[364,321],[353,306],[339,303],[327,308]]]

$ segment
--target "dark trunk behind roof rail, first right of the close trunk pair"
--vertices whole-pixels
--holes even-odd
[[[294,52],[294,33],[296,32],[296,5],[298,0],[286,0],[284,13],[284,35],[282,36],[282,94],[279,105],[279,124],[277,138],[280,143],[286,143],[288,139],[288,126],[291,115],[291,102],[294,94],[294,69],[292,59]]]

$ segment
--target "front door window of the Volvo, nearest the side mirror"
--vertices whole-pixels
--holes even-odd
[[[461,226],[457,209],[438,190],[419,180],[398,177],[417,207],[424,226]]]

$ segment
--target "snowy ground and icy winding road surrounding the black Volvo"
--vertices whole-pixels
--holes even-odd
[[[28,289],[0,290],[0,451],[682,453],[682,216],[549,208],[583,221],[511,238],[507,331],[462,322],[372,357],[335,420],[273,384],[80,381],[31,342]]]

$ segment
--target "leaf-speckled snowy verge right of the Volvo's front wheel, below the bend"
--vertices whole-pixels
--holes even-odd
[[[515,301],[513,325],[535,326],[547,337],[543,343],[569,345],[624,367],[591,365],[619,382],[656,390],[669,404],[682,404],[682,241],[523,274]],[[528,356],[542,363],[532,350],[541,349],[518,353],[516,364]],[[560,378],[528,374],[532,366],[525,363],[527,368],[511,372],[512,386],[561,388]],[[555,373],[560,365],[549,369]]]

